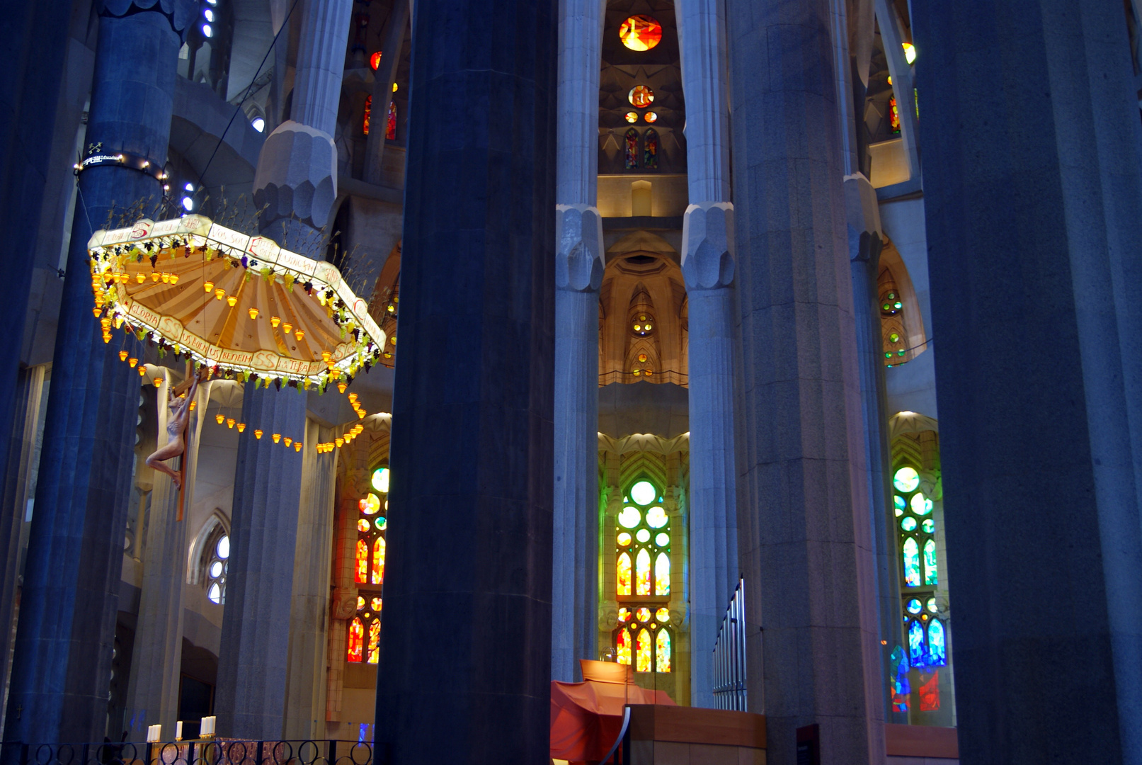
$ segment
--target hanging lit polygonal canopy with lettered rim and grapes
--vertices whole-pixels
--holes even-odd
[[[385,347],[332,264],[203,216],[97,231],[88,253],[105,341],[126,328],[227,377],[321,390]]]

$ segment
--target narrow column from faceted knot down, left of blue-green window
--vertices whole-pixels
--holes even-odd
[[[872,540],[876,574],[876,612],[880,639],[880,706],[885,719],[908,723],[907,712],[892,712],[892,694],[885,688],[891,674],[892,650],[903,643],[898,573],[896,526],[890,518],[892,502],[892,454],[888,443],[888,405],[884,371],[884,339],[880,332],[876,280],[879,274],[882,228],[876,190],[868,178],[845,176],[845,218],[853,285],[853,319],[860,364],[861,424],[864,441],[853,453],[853,465],[863,472],[862,488],[868,493],[869,532]]]

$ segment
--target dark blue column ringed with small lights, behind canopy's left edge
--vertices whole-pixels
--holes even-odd
[[[129,0],[103,0],[97,10],[87,142],[100,152],[129,152],[162,167],[178,48],[193,3],[164,0],[140,8]],[[91,316],[87,242],[113,207],[150,201],[156,208],[162,187],[153,176],[108,164],[85,170],[79,191],[6,741],[99,741],[106,727],[139,395],[138,376],[116,351],[138,354],[142,348],[119,332],[116,344],[103,343]]]

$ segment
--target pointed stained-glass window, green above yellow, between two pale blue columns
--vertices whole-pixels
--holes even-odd
[[[616,533],[619,625],[613,633],[619,663],[640,673],[668,673],[674,662],[670,626],[670,516],[662,490],[634,481],[624,499]]]

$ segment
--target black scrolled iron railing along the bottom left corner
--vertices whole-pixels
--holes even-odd
[[[384,765],[385,757],[376,765]],[[0,747],[3,765],[375,765],[371,741],[166,741],[22,743]]]

